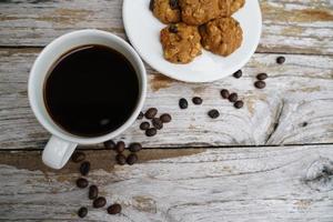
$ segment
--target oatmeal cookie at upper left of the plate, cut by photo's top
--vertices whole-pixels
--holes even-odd
[[[178,0],[151,0],[150,10],[163,23],[175,23],[181,20]]]

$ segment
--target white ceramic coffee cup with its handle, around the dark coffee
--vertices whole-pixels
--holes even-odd
[[[131,117],[111,133],[95,138],[78,137],[58,127],[48,113],[43,100],[44,82],[52,64],[71,49],[87,44],[105,46],[121,52],[131,62],[139,79],[139,99]],[[144,64],[133,48],[123,39],[105,31],[88,29],[73,31],[53,40],[36,59],[28,83],[28,94],[32,111],[38,121],[52,134],[43,150],[43,162],[53,169],[61,169],[68,162],[78,144],[101,143],[122,133],[139,115],[145,93],[147,72]]]

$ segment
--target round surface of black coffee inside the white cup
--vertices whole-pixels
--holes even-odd
[[[121,53],[84,46],[61,57],[49,72],[44,102],[53,121],[80,137],[98,137],[122,125],[135,109],[139,80]]]

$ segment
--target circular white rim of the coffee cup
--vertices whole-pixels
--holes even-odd
[[[34,85],[34,81],[33,75],[37,72],[36,69],[37,67],[40,65],[40,63],[42,62],[42,59],[46,57],[46,54],[51,53],[52,49],[59,44],[61,44],[63,41],[67,41],[68,39],[72,39],[72,38],[78,38],[79,36],[85,36],[85,34],[99,34],[105,38],[111,39],[112,41],[115,42],[115,44],[121,44],[122,47],[125,48],[125,50],[128,50],[128,52],[133,57],[132,58],[132,62],[134,64],[138,65],[139,69],[139,75],[141,78],[141,91],[139,93],[139,100],[137,102],[137,107],[134,109],[134,111],[132,112],[131,117],[121,125],[119,127],[117,130],[104,134],[104,135],[99,135],[99,137],[92,137],[92,138],[82,138],[75,134],[71,134],[70,132],[61,132],[59,131],[57,128],[54,128],[52,124],[50,124],[44,117],[42,115],[40,108],[37,103],[36,100],[36,91],[33,90]],[[83,44],[82,44],[83,46]],[[118,50],[117,50],[118,51]],[[53,41],[51,41],[37,57],[37,59],[33,62],[33,65],[30,70],[29,73],[29,80],[28,80],[28,98],[29,98],[29,103],[30,107],[37,118],[37,120],[40,122],[40,124],[47,129],[52,135],[56,135],[60,139],[63,139],[65,141],[69,142],[73,142],[73,143],[79,143],[79,144],[94,144],[94,143],[100,143],[100,142],[104,142],[107,140],[110,140],[117,135],[119,135],[120,133],[122,133],[123,131],[125,131],[129,127],[132,125],[132,123],[137,120],[137,117],[139,115],[144,100],[145,100],[145,95],[147,95],[147,70],[143,64],[143,61],[141,60],[141,58],[139,57],[139,54],[137,53],[137,51],[123,39],[121,39],[120,37],[117,37],[115,34],[112,34],[110,32],[107,31],[102,31],[102,30],[97,30],[97,29],[84,29],[84,30],[78,30],[78,31],[72,31],[72,32],[68,32],[65,34],[62,34],[60,37],[58,37],[57,39],[54,39]],[[48,115],[50,117],[50,114],[48,113]],[[50,120],[52,121],[53,124],[58,125],[52,118],[50,117]]]

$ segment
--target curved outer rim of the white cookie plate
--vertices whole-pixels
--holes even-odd
[[[150,62],[150,59],[148,59],[144,53],[141,52],[140,50],[140,47],[138,47],[133,41],[133,37],[129,33],[131,33],[129,30],[129,26],[128,26],[128,22],[127,21],[127,10],[125,10],[125,4],[128,2],[130,2],[132,0],[123,0],[122,2],[122,23],[123,23],[123,27],[124,27],[124,31],[125,31],[125,34],[129,39],[129,41],[131,42],[132,47],[135,49],[135,51],[139,53],[139,56],[142,58],[142,60],[148,63],[152,69],[154,69],[155,71],[159,72],[159,74],[162,74],[162,75],[165,75],[165,77],[169,77],[171,79],[174,79],[174,80],[179,80],[179,81],[182,81],[182,82],[190,82],[190,83],[203,83],[203,82],[213,82],[213,81],[218,81],[218,80],[221,80],[223,78],[226,78],[229,75],[231,75],[232,73],[229,73],[229,74],[215,74],[213,75],[213,78],[210,78],[210,79],[204,79],[204,80],[200,80],[200,79],[185,79],[185,78],[181,78],[176,74],[173,74],[173,72],[168,72],[165,73],[165,70],[160,70],[159,68],[155,68],[152,63],[153,62]],[[248,1],[253,1],[253,0],[248,0]],[[259,33],[256,34],[255,37],[255,44],[252,46],[252,48],[249,50],[250,52],[248,53],[248,56],[238,64],[235,65],[232,70],[234,70],[234,72],[236,70],[240,70],[242,69],[249,61],[250,59],[252,58],[252,56],[255,53],[256,51],[256,48],[259,47],[259,43],[260,43],[260,39],[261,39],[261,36],[262,36],[262,11],[261,11],[261,7],[260,7],[260,3],[259,3],[259,0],[255,1],[256,3],[256,7],[259,9],[259,19],[260,19],[260,23],[259,23]],[[209,51],[208,51],[209,52]],[[211,52],[209,52],[211,53]],[[176,65],[176,64],[175,64]],[[181,64],[179,64],[181,65]]]

